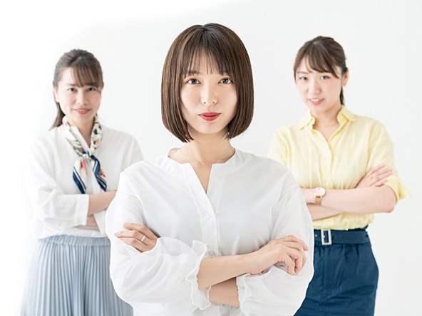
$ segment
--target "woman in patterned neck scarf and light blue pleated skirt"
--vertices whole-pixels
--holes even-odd
[[[118,177],[142,159],[134,137],[98,120],[100,63],[72,50],[56,64],[57,117],[29,149],[25,183],[38,239],[21,315],[133,315],[110,281],[105,213]]]

